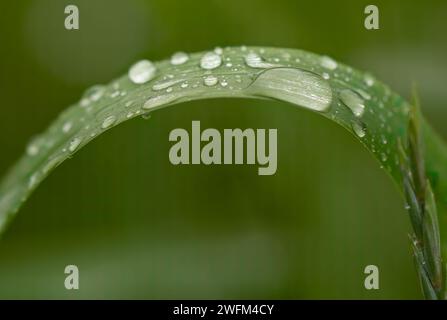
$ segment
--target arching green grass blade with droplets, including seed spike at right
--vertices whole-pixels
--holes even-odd
[[[99,134],[158,108],[218,97],[282,100],[318,112],[350,131],[406,198],[426,296],[445,297],[445,144],[417,108],[371,75],[300,50],[228,47],[177,54],[167,61],[143,62],[129,75],[87,90],[33,139],[1,182],[0,231],[52,170]]]

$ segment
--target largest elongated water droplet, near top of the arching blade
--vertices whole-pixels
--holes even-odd
[[[249,92],[291,102],[316,111],[326,111],[332,102],[329,83],[317,74],[297,68],[274,68],[262,72]]]

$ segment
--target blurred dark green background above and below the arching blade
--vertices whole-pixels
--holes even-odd
[[[76,4],[80,30],[64,29]],[[323,53],[409,97],[445,138],[447,2],[36,0],[0,4],[0,175],[83,90],[141,58],[215,46]],[[182,166],[168,133],[277,128],[278,171]],[[206,100],[99,137],[35,192],[0,240],[0,298],[421,298],[397,188],[334,123],[284,103]],[[80,290],[64,268],[80,269]],[[363,269],[380,268],[367,291]]]

